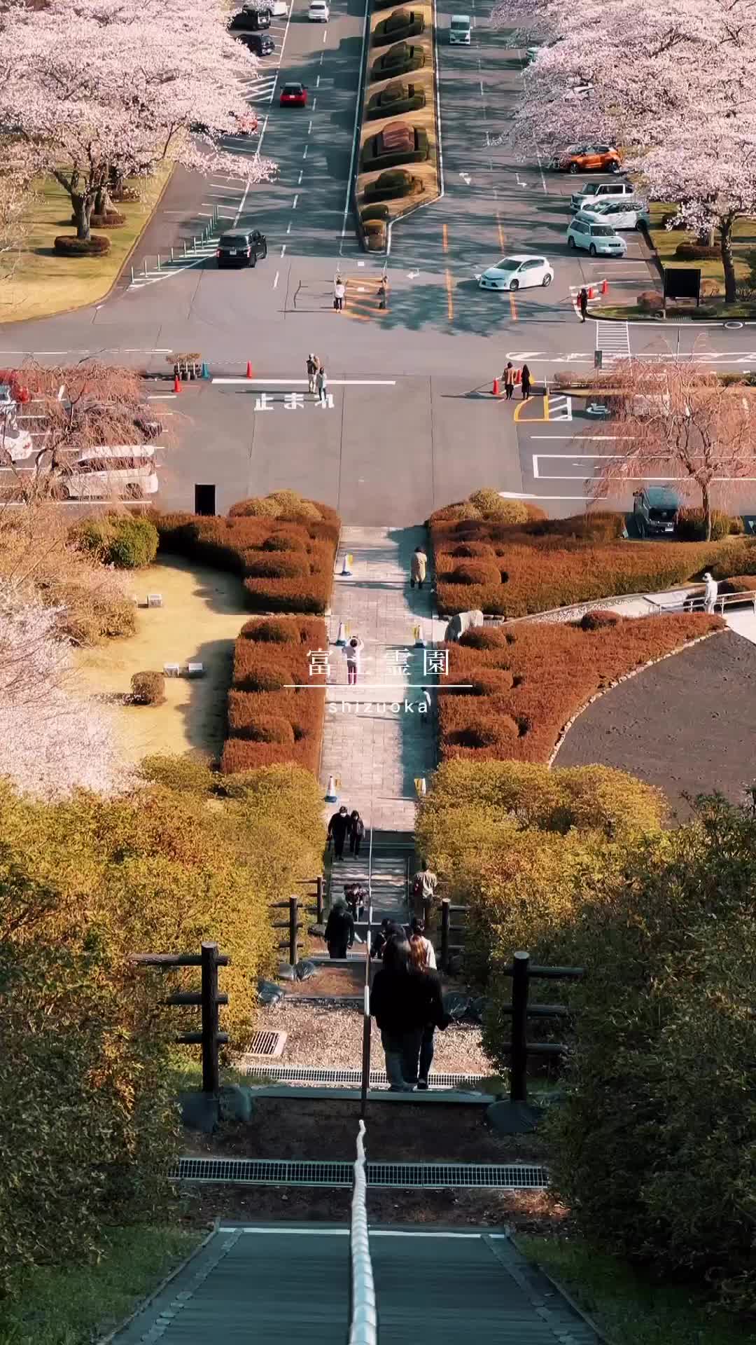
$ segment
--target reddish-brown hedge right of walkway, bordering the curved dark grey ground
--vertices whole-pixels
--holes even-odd
[[[449,672],[439,694],[441,757],[547,761],[592,695],[722,627],[718,616],[697,612],[616,617],[588,628],[565,621],[469,631],[448,646]],[[471,683],[471,690],[444,691],[444,681]]]

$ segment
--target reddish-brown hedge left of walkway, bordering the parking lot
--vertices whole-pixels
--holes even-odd
[[[331,596],[340,522],[295,491],[241,500],[227,518],[151,514],[167,551],[231,570],[253,612],[322,615]]]

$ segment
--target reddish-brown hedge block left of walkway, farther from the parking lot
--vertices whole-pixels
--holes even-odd
[[[288,616],[242,627],[234,650],[223,772],[295,761],[317,773],[326,689],[309,675],[308,651],[327,648],[324,621]]]

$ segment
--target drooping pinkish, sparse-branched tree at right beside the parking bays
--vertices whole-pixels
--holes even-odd
[[[681,480],[700,492],[712,537],[713,490],[756,476],[756,401],[744,385],[725,386],[701,364],[623,360],[596,375],[592,389],[613,417],[597,459],[593,495],[617,482]]]

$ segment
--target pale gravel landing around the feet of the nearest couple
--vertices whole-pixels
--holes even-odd
[[[322,1065],[359,1068],[362,1061],[362,1006],[297,1005],[284,1001],[277,1009],[261,1009],[258,1030],[288,1033],[281,1065]],[[381,1034],[373,1024],[373,1069],[383,1069]],[[260,1061],[261,1072],[265,1060]],[[480,1028],[452,1025],[436,1033],[433,1069],[444,1072],[495,1073],[480,1045]]]

